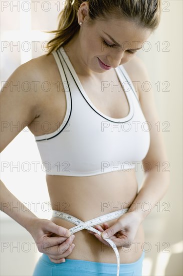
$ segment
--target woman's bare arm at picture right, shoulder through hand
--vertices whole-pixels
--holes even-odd
[[[142,161],[144,165],[143,170],[146,172],[144,173],[142,187],[132,202],[128,212],[118,218],[117,222],[111,227],[109,227],[107,223],[103,224],[104,229],[100,225],[95,226],[96,229],[108,233],[108,237],[114,241],[116,246],[123,247],[129,247],[129,244],[132,243],[143,219],[152,211],[154,205],[166,193],[170,179],[169,168],[165,170],[166,166],[164,166],[168,164],[168,159],[165,152],[162,133],[157,131],[156,124],[159,119],[155,107],[153,91],[151,89],[147,92],[140,89],[143,82],[150,82],[147,70],[138,57],[135,57],[130,62],[131,64],[127,64],[125,69],[132,68],[133,72],[131,70],[126,70],[127,72],[132,72],[132,74],[128,73],[131,80],[140,81],[137,94],[145,119],[151,126],[149,151]],[[146,203],[147,206],[144,205]],[[146,211],[147,209],[149,210],[148,212]],[[94,234],[91,231],[90,233]],[[106,244],[105,240],[103,240],[100,235],[96,235],[96,237]],[[105,238],[106,236],[103,237]],[[108,246],[108,244],[106,245]]]

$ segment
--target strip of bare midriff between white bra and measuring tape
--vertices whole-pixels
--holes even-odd
[[[87,221],[92,217],[128,208],[135,199],[135,171],[89,177],[46,176],[51,207]]]

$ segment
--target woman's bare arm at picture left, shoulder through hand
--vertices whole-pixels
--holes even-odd
[[[41,59],[43,60],[43,59]],[[42,67],[41,67],[42,65]],[[43,65],[39,60],[31,60],[21,65],[7,80],[1,91],[1,152],[13,141],[25,126],[31,124],[39,116],[41,110],[41,92],[30,89],[29,91],[18,90],[15,86],[18,82],[32,83],[42,79],[45,75]],[[40,69],[41,68],[41,69]],[[45,66],[46,68],[46,66]],[[20,85],[21,87],[21,85]],[[13,125],[22,126],[22,129]],[[20,149],[21,150],[21,149]],[[19,205],[11,210],[11,205]],[[36,241],[38,250],[49,255],[51,261],[61,263],[65,257],[71,254],[74,246],[72,244],[74,235],[68,229],[55,224],[48,219],[41,219],[34,215],[22,202],[19,201],[1,181],[1,210],[12,217],[20,225],[26,228]],[[25,211],[24,211],[25,210]],[[55,233],[58,236],[51,237]],[[45,244],[47,247],[45,247]],[[49,249],[49,250],[48,250]]]

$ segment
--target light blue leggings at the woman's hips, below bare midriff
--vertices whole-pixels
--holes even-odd
[[[141,276],[144,251],[141,257],[131,263],[120,264],[120,276]],[[48,255],[42,254],[33,272],[33,276],[116,276],[117,264],[88,260],[67,259],[63,263],[52,262]]]

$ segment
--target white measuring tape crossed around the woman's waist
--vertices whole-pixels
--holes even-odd
[[[109,214],[106,214],[106,215],[88,220],[86,222],[84,222],[84,221],[82,221],[82,220],[80,220],[76,217],[73,217],[71,215],[68,215],[67,213],[64,213],[64,212],[61,212],[61,211],[56,211],[56,210],[53,210],[53,217],[62,218],[62,219],[65,219],[67,221],[70,221],[70,222],[76,224],[76,226],[69,229],[71,234],[74,234],[74,233],[76,233],[78,231],[81,231],[83,229],[87,229],[87,230],[95,232],[95,233],[97,233],[101,236],[102,232],[95,229],[95,228],[93,228],[93,227],[91,227],[91,226],[94,226],[96,224],[101,224],[103,222],[118,218],[121,215],[123,215],[124,213],[126,213],[128,211],[128,209],[129,208],[125,208],[125,209],[121,209],[119,211],[111,212]],[[109,238],[103,238],[103,239],[106,240],[110,244],[110,246],[113,248],[113,250],[116,254],[116,258],[117,258],[117,276],[119,276],[120,259],[119,259],[118,249],[117,249],[115,243],[111,239],[109,239]]]

